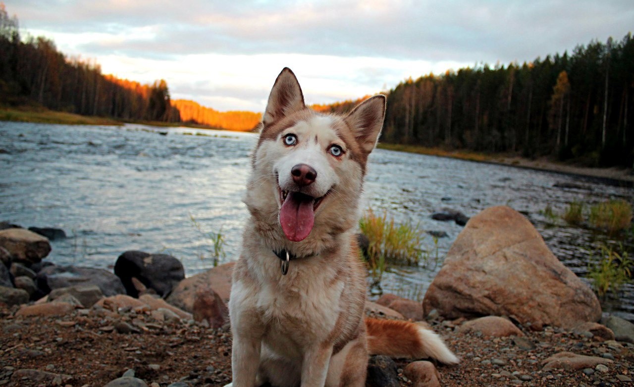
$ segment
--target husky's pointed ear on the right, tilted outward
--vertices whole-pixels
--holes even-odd
[[[344,120],[353,129],[354,136],[366,154],[377,145],[378,134],[385,117],[385,96],[368,98],[347,115]]]

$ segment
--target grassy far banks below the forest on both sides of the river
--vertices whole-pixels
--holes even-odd
[[[21,106],[18,108],[0,107],[0,121],[13,122],[34,122],[39,124],[63,124],[63,125],[112,125],[120,126],[125,121],[114,120],[105,117],[84,116],[74,113],[65,113],[61,111],[52,111],[45,108],[36,108],[31,106]],[[157,127],[195,127],[198,129],[219,129],[206,127],[204,125],[188,125],[183,123],[165,123],[165,122],[130,122],[135,124],[144,124]],[[569,175],[581,175],[585,177],[594,177],[602,179],[609,184],[618,184],[624,182],[628,186],[634,186],[634,171],[631,168],[593,168],[581,167],[578,165],[570,165],[566,163],[553,162],[547,158],[537,160],[529,160],[519,156],[495,155],[485,153],[475,153],[472,151],[447,151],[440,148],[427,148],[424,146],[414,146],[405,144],[384,144],[378,145],[381,149],[403,151],[408,153],[419,153],[422,155],[441,156],[448,158],[458,158],[460,160],[469,160],[474,162],[494,163],[498,165],[508,165],[510,167],[529,168],[533,170],[543,170],[547,172],[558,172]]]

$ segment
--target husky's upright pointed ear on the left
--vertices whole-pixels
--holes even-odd
[[[271,94],[269,94],[269,101],[262,117],[262,125],[268,127],[280,118],[304,108],[306,108],[304,94],[299,87],[297,77],[290,68],[285,67],[275,80]]]

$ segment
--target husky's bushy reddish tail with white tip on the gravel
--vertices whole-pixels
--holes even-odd
[[[365,319],[368,352],[389,357],[435,358],[444,364],[460,360],[434,331],[413,322]]]

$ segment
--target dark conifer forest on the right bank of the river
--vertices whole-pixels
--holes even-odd
[[[632,167],[633,88],[631,33],[522,65],[410,78],[387,95],[382,141]]]

